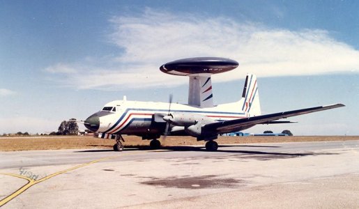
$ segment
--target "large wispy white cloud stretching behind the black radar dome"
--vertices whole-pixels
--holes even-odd
[[[216,75],[213,82],[241,79],[247,72],[259,77],[358,72],[359,51],[335,40],[327,31],[270,29],[235,22],[147,9],[140,15],[109,21],[109,40],[123,53],[59,63],[47,72],[63,75],[61,82],[76,88],[115,90],[185,84],[187,78],[165,75],[160,65],[192,56],[222,56],[240,63],[236,70]]]

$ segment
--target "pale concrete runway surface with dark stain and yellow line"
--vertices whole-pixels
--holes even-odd
[[[0,152],[3,208],[358,208],[359,141]]]

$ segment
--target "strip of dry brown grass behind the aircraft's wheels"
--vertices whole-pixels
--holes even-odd
[[[135,148],[148,148],[149,140],[140,137],[124,136],[123,145]],[[218,144],[249,144],[270,142],[298,141],[347,141],[359,140],[359,136],[315,136],[315,137],[219,137]],[[196,141],[193,137],[167,137],[160,139],[162,146],[204,145],[204,141]],[[0,137],[0,151],[15,150],[59,150],[75,148],[109,148],[115,144],[114,139],[98,139],[94,137]]]

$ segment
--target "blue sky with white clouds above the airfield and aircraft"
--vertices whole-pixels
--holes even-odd
[[[0,133],[49,132],[128,100],[185,103],[188,79],[158,69],[192,56],[240,66],[213,76],[216,104],[259,78],[263,114],[342,102],[248,132],[359,134],[358,1],[1,1]]]

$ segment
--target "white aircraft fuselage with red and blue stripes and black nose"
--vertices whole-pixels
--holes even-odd
[[[228,121],[246,118],[249,114],[242,111],[239,102],[220,104],[215,107],[198,108],[188,104],[171,104],[167,102],[138,102],[116,100],[105,104],[105,107],[85,121],[85,126],[94,132],[106,134],[135,134],[153,137],[163,134],[166,121],[162,118],[168,114],[177,116],[176,124],[181,127],[203,120],[207,122]],[[178,132],[181,133],[181,132]],[[182,133],[183,134],[183,133]]]

